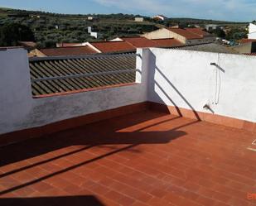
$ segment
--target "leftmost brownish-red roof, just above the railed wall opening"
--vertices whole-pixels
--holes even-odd
[[[70,46],[40,50],[46,56],[89,55],[98,53],[89,46]]]

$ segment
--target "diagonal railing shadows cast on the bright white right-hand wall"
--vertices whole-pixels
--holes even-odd
[[[195,118],[200,121],[200,116],[199,114],[196,112],[196,109],[193,108],[193,106],[191,105],[191,103],[189,103],[189,101],[185,98],[185,96],[176,88],[176,86],[174,84],[171,83],[170,79],[168,79],[165,74],[162,73],[162,70],[159,69],[157,67],[156,64],[156,56],[152,53],[151,50],[148,50],[148,52],[150,52],[150,65],[152,66],[149,69],[150,74],[148,74],[148,96],[150,97],[150,99],[153,99],[154,102],[157,103],[161,103],[162,105],[165,105],[165,110],[167,113],[170,113],[168,106],[173,106],[176,109],[176,113],[178,113],[178,115],[180,117],[182,117],[182,113],[181,113],[181,108],[178,107],[178,105],[176,104],[176,102],[171,98],[171,96],[167,93],[167,91],[165,91],[165,89],[162,89],[162,86],[160,83],[158,83],[155,79],[156,76],[156,71],[158,74],[160,74],[162,76],[162,80],[164,80],[170,87],[172,90],[174,90],[180,97],[181,99],[186,103],[186,105],[191,108],[191,111],[194,113]],[[161,92],[163,93],[163,95],[170,101],[170,103],[172,105],[167,105],[162,98],[158,95],[158,93],[156,92],[156,88],[160,89]],[[151,91],[153,91],[153,93],[151,93]]]

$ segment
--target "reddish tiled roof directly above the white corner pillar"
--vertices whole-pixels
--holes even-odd
[[[157,43],[149,40],[145,37],[136,36],[136,37],[123,37],[121,38],[123,41],[127,41],[131,45],[136,48],[147,48],[147,47],[157,47]]]

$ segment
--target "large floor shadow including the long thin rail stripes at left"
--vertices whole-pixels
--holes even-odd
[[[58,170],[49,175],[41,176],[40,178],[28,181],[24,184],[19,184],[12,188],[5,189],[0,192],[0,195],[8,194],[17,189],[25,188],[31,184],[36,184],[53,176],[79,168],[80,166],[104,159],[107,156],[112,156],[118,152],[141,152],[138,148],[134,148],[140,144],[166,144],[176,138],[186,135],[186,132],[179,131],[179,129],[197,122],[192,121],[185,124],[181,123],[178,125],[176,124],[176,127],[171,127],[171,121],[177,118],[179,117],[147,111],[144,113],[130,114],[124,117],[110,119],[108,121],[96,122],[86,125],[85,127],[79,127],[66,132],[59,132],[52,135],[51,137],[31,139],[17,145],[5,146],[0,149],[0,156],[5,157],[1,160],[2,165],[10,164],[18,160],[27,160],[29,157],[43,155],[46,152],[54,151],[66,146],[79,145],[83,147],[79,147],[79,149],[75,149],[61,155],[52,156],[46,160],[39,160],[36,163],[27,164],[25,166],[19,167],[18,169],[5,172],[0,175],[0,178],[7,175],[13,175],[17,172],[30,169],[37,165],[51,162],[52,160],[60,159],[64,156],[70,156],[80,151],[85,151],[92,147],[110,146],[111,148],[109,147],[109,150],[104,152],[104,154],[95,156],[92,159],[81,160],[78,164],[65,167],[62,170]],[[137,123],[134,123],[133,120],[136,120],[135,122]],[[138,126],[138,122],[141,122],[142,125]],[[167,123],[166,127],[163,128],[162,123]],[[125,127],[131,125],[133,125],[132,128]],[[167,130],[169,127],[170,130]],[[124,129],[124,131],[119,131],[120,129]],[[115,147],[115,145],[120,146]]]

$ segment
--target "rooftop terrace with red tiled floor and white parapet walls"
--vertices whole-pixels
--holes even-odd
[[[41,66],[94,75],[89,58]],[[127,55],[104,58],[125,66]],[[77,77],[35,77],[26,50],[0,51],[1,206],[256,205],[255,57],[151,48],[135,58],[133,82],[35,98],[35,79]]]

